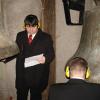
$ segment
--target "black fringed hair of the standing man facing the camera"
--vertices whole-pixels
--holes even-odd
[[[38,25],[38,18],[36,15],[27,15],[24,19],[24,24],[29,26],[35,26]]]

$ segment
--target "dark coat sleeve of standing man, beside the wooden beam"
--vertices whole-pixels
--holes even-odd
[[[53,40],[51,36],[47,39],[47,48],[46,48],[46,54],[44,55],[46,57],[46,63],[50,63],[54,57],[54,47],[53,47]]]

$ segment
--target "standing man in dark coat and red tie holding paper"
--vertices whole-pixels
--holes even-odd
[[[55,56],[52,37],[40,29],[37,16],[30,14],[24,19],[24,30],[17,34],[16,43],[20,50],[16,55],[17,100],[27,100],[28,92],[30,100],[41,100]],[[5,59],[4,63],[12,59]]]

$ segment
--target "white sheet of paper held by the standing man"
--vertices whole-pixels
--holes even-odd
[[[25,68],[39,64],[37,59],[39,59],[42,56],[43,54],[39,54],[36,56],[25,58],[25,63],[24,63]]]

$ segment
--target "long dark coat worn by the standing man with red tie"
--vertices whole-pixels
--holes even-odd
[[[16,43],[20,49],[16,59],[16,88],[28,86],[44,90],[48,84],[49,65],[54,58],[51,36],[39,29],[32,44],[29,45],[27,31],[22,31],[17,34]],[[41,53],[46,57],[45,64],[38,64],[28,68],[24,67],[25,58]]]

